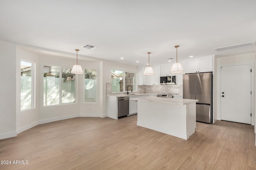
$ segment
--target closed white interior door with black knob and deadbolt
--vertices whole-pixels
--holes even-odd
[[[221,119],[251,124],[251,64],[222,66]]]

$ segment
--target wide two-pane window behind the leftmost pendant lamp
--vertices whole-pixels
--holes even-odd
[[[44,66],[44,106],[76,102],[75,74],[70,72],[70,68]]]

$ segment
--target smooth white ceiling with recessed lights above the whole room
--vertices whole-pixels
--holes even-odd
[[[178,61],[239,55],[255,46],[214,48],[256,41],[255,6],[255,0],[1,0],[0,40],[74,57],[80,49],[80,59],[132,65],[146,65],[149,51],[151,65],[175,61],[175,45]]]

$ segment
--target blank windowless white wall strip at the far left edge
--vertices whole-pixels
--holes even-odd
[[[0,139],[16,136],[16,45],[0,41]]]

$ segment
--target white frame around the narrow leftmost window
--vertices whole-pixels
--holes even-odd
[[[27,109],[21,109],[21,78],[20,78],[20,111],[26,111],[26,110],[30,110],[30,109],[35,109],[36,108],[36,106],[35,106],[35,104],[36,104],[36,102],[35,102],[35,66],[36,66],[36,63],[34,63],[34,62],[32,62],[32,61],[27,61],[27,60],[23,60],[23,59],[21,59],[20,60],[20,66],[21,66],[21,62],[26,62],[26,63],[31,63],[31,78],[32,78],[32,81],[31,81],[31,84],[32,84],[32,89],[31,89],[31,107],[30,108],[27,108]]]

